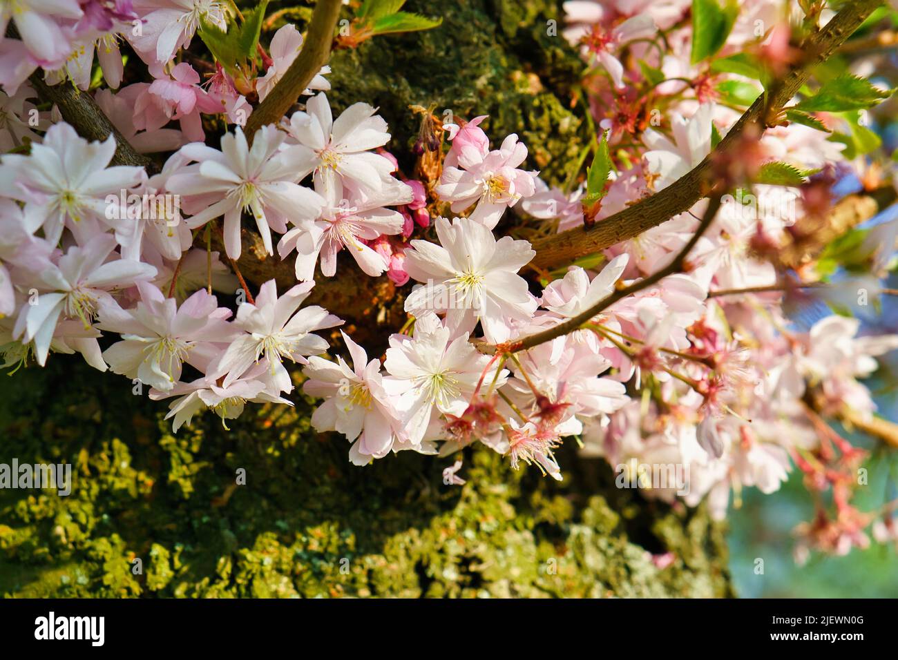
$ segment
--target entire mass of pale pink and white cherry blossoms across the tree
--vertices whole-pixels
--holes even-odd
[[[524,462],[561,480],[555,450],[569,438],[612,466],[685,466],[685,501],[707,498],[718,516],[731,491],[735,499],[744,487],[773,492],[795,465],[814,488],[832,488],[838,506],[836,519],[809,526],[806,542],[838,552],[864,545],[874,516],[849,503],[862,453],[823,418],[873,418],[876,405],[858,379],[876,370],[876,356],[898,348],[898,335],[858,336],[858,321],[843,316],[798,328],[784,312],[783,265],[771,256],[813,237],[820,180],[864,176],[864,159],[846,158],[827,132],[784,122],[756,144],[746,141],[738,162],[719,167],[757,172],[775,163],[820,173],[790,185],[745,184],[753,212],[724,204],[682,272],[573,331],[513,348],[665,267],[709,202],[612,245],[603,265],[543,274],[539,289],[525,278],[536,252],[515,239],[515,227],[548,234],[601,224],[675,185],[741,114],[721,90],[748,84],[692,63],[686,0],[565,5],[565,37],[595,65],[591,112],[619,166],[598,207],[586,208],[591,191],[583,186],[554,188],[526,169],[518,136],[492,148],[480,128],[485,117],[443,126],[451,146],[440,152],[437,178],[405,177],[384,150],[391,136],[371,105],[357,102],[334,118],[326,68],[304,91],[304,110],[244,135],[252,103],[302,48],[292,25],[277,31],[269,53],[260,48],[264,72],[235,79],[210,66],[210,83],[201,85],[176,56],[201,23],[228,27],[228,13],[212,0],[19,0],[12,14],[0,9],[19,35],[0,38],[5,366],[80,353],[101,371],[145,384],[152,399],[171,400],[177,430],[207,409],[227,420],[247,402],[291,405],[290,361],[302,365],[295,375],[303,392],[321,400],[313,426],[346,436],[359,465],[401,450],[449,455],[482,443],[515,468]],[[788,33],[780,3],[748,5],[721,55],[752,52],[771,68],[788,62],[788,48],[774,39],[782,25]],[[758,21],[770,29],[758,34]],[[152,83],[119,88],[122,39]],[[159,172],[110,165],[113,137],[89,142],[34,105],[28,75],[40,67],[49,83],[87,90],[95,49],[118,90],[93,92],[95,100],[137,151],[171,152]],[[668,119],[652,122],[649,104]],[[204,130],[213,117],[236,124],[219,148],[207,145]],[[846,121],[824,112],[812,119],[832,129]],[[779,203],[784,191],[788,204]],[[242,288],[236,260],[247,227],[265,252],[295,264],[295,286],[278,294],[271,279],[255,297]],[[497,238],[499,228],[507,231]],[[894,244],[894,226],[878,231],[892,231]],[[213,232],[221,260],[202,245]],[[876,262],[885,263],[891,249],[878,244]],[[355,263],[339,256],[344,251]],[[337,316],[304,305],[316,278],[321,284],[346,269],[409,282],[409,322],[383,356],[337,333]],[[834,288],[819,290],[835,297]],[[237,291],[235,309],[213,291]],[[325,356],[332,347],[337,354]],[[463,483],[460,468],[447,470],[450,482]],[[677,490],[650,493],[672,499]],[[876,525],[877,538],[894,535],[890,518]]]

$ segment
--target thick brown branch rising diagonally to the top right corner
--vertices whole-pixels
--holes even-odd
[[[836,48],[867,19],[881,0],[856,0],[846,4],[822,30],[814,32],[801,45],[804,54],[799,66],[793,68],[781,85],[762,94],[752,107],[745,111],[720,144],[718,153],[726,153],[740,142],[740,137],[750,124],[762,130],[774,125],[780,111],[795,96],[814,66],[832,56]],[[768,110],[765,112],[765,108]],[[531,262],[536,268],[557,268],[579,257],[602,251],[615,243],[626,241],[656,227],[685,211],[708,194],[702,182],[709,180],[712,156],[705,158],[691,172],[672,185],[649,198],[627,207],[619,213],[594,224],[591,228],[578,227],[533,243],[536,257]]]

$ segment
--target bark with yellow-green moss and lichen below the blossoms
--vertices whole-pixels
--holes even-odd
[[[304,400],[172,435],[161,404],[66,356],[4,378],[2,397],[2,462],[70,462],[75,483],[69,497],[0,491],[0,594],[729,593],[718,525],[614,488],[571,452],[556,484],[468,450],[468,484],[445,486],[447,459],[349,464],[345,439],[309,429]],[[676,559],[658,569],[649,550]]]

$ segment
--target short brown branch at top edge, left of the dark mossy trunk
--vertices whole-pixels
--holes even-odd
[[[299,51],[293,64],[277,81],[265,101],[252,111],[246,122],[246,138],[252,142],[256,131],[269,124],[280,123],[299,95],[309,86],[313,77],[328,63],[330,44],[339,18],[340,0],[318,0],[312,13],[312,21],[305,33],[303,49]]]

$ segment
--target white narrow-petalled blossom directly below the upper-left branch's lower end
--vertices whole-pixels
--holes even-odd
[[[200,143],[181,147],[195,165],[189,165],[169,180],[169,191],[190,196],[185,210],[198,212],[187,220],[195,229],[218,216],[225,216],[225,251],[232,259],[241,255],[240,216],[251,212],[263,245],[274,254],[271,229],[286,232],[286,220],[310,221],[321,214],[324,200],[313,190],[295,183],[296,168],[303,154],[295,149],[280,151],[285,135],[273,126],[256,133],[252,149],[241,128],[222,137],[222,151]]]

